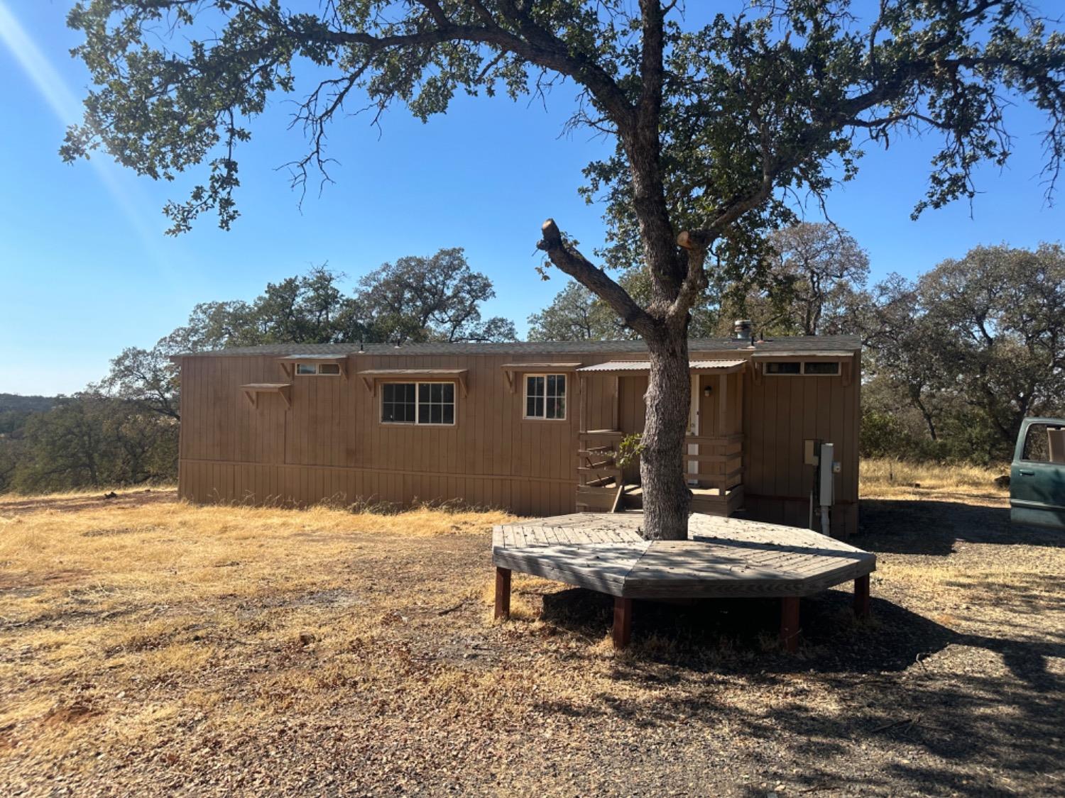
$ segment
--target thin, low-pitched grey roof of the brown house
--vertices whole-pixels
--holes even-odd
[[[774,354],[819,353],[851,354],[862,349],[857,335],[791,335],[758,342],[752,347],[746,339],[691,338],[691,352],[766,352]],[[187,352],[185,356],[225,358],[237,355],[276,355],[289,359],[343,358],[348,354],[403,354],[403,355],[470,355],[470,354],[643,354],[648,351],[642,340],[517,340],[502,344],[430,342],[426,344],[267,344],[258,347],[231,347],[203,352]]]

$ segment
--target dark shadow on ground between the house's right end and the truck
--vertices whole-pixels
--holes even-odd
[[[957,541],[1065,546],[1065,531],[1013,526],[1009,508],[925,499],[863,499],[855,546],[873,552],[946,556]]]

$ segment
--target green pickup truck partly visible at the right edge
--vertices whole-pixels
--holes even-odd
[[[1010,467],[1010,520],[1065,529],[1065,419],[1020,425]]]

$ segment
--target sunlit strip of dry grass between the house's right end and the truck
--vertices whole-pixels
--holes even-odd
[[[908,495],[914,491],[1004,495],[995,478],[1009,472],[1009,466],[983,468],[867,458],[859,466],[858,491],[862,496]]]

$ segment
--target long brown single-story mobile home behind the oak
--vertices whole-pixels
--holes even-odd
[[[857,526],[855,336],[690,342],[693,510],[806,527],[815,443]],[[641,342],[281,344],[184,354],[180,493],[197,502],[639,506],[613,461],[644,422]]]

